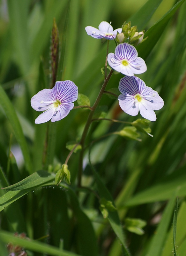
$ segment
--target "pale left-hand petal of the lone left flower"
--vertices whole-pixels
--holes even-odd
[[[35,94],[30,101],[32,108],[36,111],[44,111],[50,108],[50,104],[55,100],[51,91],[51,89],[43,89]]]

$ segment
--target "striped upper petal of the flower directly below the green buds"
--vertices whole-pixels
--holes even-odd
[[[128,43],[118,44],[115,48],[115,58],[118,60],[136,60],[138,52],[136,48]]]

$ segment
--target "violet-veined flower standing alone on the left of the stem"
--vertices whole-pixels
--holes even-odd
[[[67,116],[78,99],[78,87],[70,80],[58,81],[52,89],[43,89],[31,99],[36,111],[44,111],[35,119],[35,124],[56,122]]]

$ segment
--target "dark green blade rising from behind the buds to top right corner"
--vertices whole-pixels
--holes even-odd
[[[145,32],[144,37],[148,36],[147,40],[136,47],[140,57],[146,59],[146,57],[150,54],[153,47],[158,42],[160,36],[165,30],[168,21],[175,14],[180,5],[184,3],[184,1],[185,0],[180,0],[177,2],[160,20],[158,20],[151,28]]]

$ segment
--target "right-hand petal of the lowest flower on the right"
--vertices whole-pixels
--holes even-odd
[[[151,87],[146,86],[143,92],[143,98],[146,100],[146,104],[153,110],[159,110],[164,106],[163,99],[158,92],[154,91]]]

